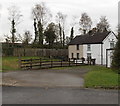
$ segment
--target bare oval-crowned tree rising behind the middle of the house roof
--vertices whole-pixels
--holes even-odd
[[[80,24],[79,30],[82,31],[83,34],[86,34],[91,29],[92,20],[87,13],[82,13],[79,24]]]

